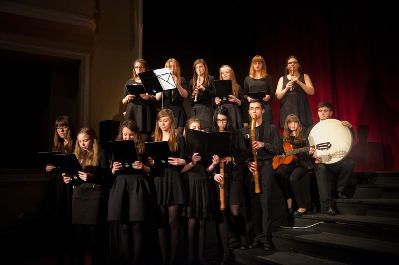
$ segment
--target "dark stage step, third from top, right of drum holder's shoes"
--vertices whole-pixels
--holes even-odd
[[[379,216],[399,218],[399,199],[351,198],[335,199],[336,207],[343,215]],[[399,220],[398,220],[399,222]]]

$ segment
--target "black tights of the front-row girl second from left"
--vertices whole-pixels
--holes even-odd
[[[90,248],[91,264],[98,265],[102,264],[101,259],[101,249],[100,249],[100,229],[96,225],[77,225],[77,255],[76,261],[77,265],[85,264],[86,257],[86,247],[88,245]],[[89,236],[87,235],[89,234]],[[90,239],[90,241],[87,240]]]

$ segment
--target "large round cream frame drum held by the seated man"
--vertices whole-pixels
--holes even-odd
[[[353,146],[351,130],[336,119],[327,119],[317,123],[310,131],[310,146],[330,142],[331,148],[316,150],[313,157],[321,157],[322,163],[334,164],[346,158]]]

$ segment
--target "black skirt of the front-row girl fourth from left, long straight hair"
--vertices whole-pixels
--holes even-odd
[[[180,170],[174,167],[160,168],[154,177],[158,205],[184,204],[183,181]]]

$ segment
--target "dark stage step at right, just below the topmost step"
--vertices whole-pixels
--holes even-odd
[[[348,198],[399,199],[399,184],[357,184],[345,189]]]

